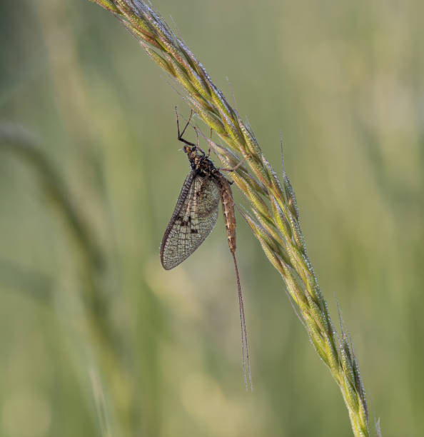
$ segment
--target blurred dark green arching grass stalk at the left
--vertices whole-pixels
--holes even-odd
[[[101,277],[107,270],[104,249],[96,240],[95,233],[84,218],[83,212],[72,201],[69,186],[54,162],[46,156],[39,141],[24,126],[0,122],[0,151],[10,151],[34,171],[46,199],[63,218],[64,228],[69,233],[69,239],[76,249],[76,263],[81,268],[84,281],[86,281],[84,301],[87,304],[89,331],[83,329],[82,331],[86,335],[79,335],[79,341],[86,342],[86,345],[89,345],[86,350],[94,350],[100,356],[100,361],[107,363],[107,366],[104,366],[104,369],[106,368],[104,372],[109,372],[109,376],[113,375],[115,379],[118,376],[121,380],[126,381],[127,376],[124,374],[115,352],[119,341],[116,339],[115,330],[108,318],[108,301],[101,287]],[[31,291],[34,291],[34,284],[31,284]],[[46,292],[44,291],[44,293]],[[81,333],[81,326],[76,330],[77,336],[78,333]],[[92,340],[90,340],[90,336],[93,336]],[[90,368],[91,380],[95,371],[95,368]],[[94,400],[99,411],[102,433],[108,437],[111,435],[111,429],[109,418],[106,417],[104,389],[101,387],[99,375],[96,373],[95,376],[96,386],[92,381],[92,387],[96,389],[93,392]]]

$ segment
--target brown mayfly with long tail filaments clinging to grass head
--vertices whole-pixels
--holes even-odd
[[[198,146],[183,138],[190,124],[191,116],[180,133],[178,112],[176,111],[178,141],[184,143],[183,151],[190,161],[191,171],[183,183],[171,220],[166,227],[161,244],[161,263],[163,268],[170,270],[182,263],[196,248],[205,241],[211,233],[218,218],[218,206],[221,199],[224,223],[227,231],[228,246],[233,256],[234,269],[238,288],[238,305],[240,307],[241,349],[243,355],[243,374],[248,388],[247,374],[252,388],[251,366],[249,362],[246,319],[244,316],[243,296],[241,294],[240,278],[236,262],[236,214],[234,211],[231,181],[228,181],[221,171],[235,169],[217,169],[209,159],[208,154]],[[196,131],[197,134],[197,131]],[[198,142],[198,141],[197,141]],[[210,141],[211,144],[211,141]]]

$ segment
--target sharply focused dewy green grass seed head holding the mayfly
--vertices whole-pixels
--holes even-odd
[[[291,183],[279,181],[265,159],[250,126],[228,104],[202,64],[151,6],[141,0],[91,0],[115,15],[153,61],[184,90],[186,101],[228,146],[216,148],[221,161],[235,166],[246,159],[251,174],[240,167],[231,174],[251,203],[253,216],[242,213],[263,251],[281,273],[313,346],[340,387],[355,436],[369,436],[368,410],[358,361],[343,327],[336,333],[320,291],[299,223]]]

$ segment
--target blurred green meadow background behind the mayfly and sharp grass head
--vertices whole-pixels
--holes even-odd
[[[423,436],[423,2],[154,6],[231,100],[228,76],[278,171],[283,133],[371,426]],[[89,1],[0,11],[0,436],[350,436],[338,388],[241,218],[253,393],[222,218],[195,255],[161,268],[188,172],[173,107],[188,108],[166,75]]]

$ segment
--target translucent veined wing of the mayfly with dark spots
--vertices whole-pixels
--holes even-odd
[[[191,171],[168,223],[161,244],[161,263],[169,270],[178,266],[211,233],[218,217],[219,188],[216,181]]]

